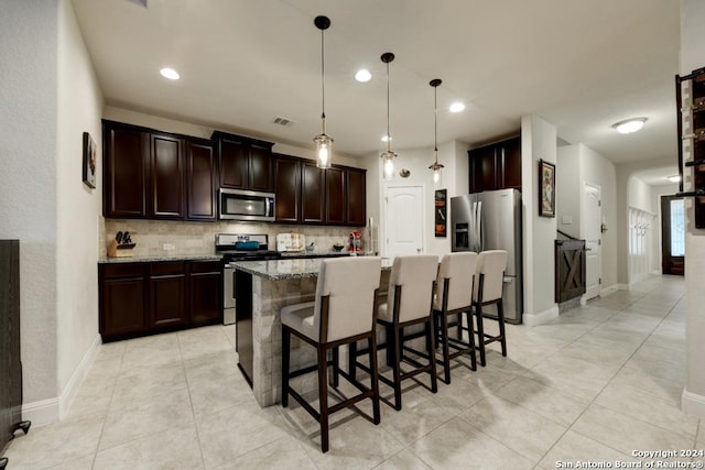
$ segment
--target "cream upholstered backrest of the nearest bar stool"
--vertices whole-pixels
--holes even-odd
[[[375,291],[379,288],[382,260],[377,256],[326,259],[316,284],[314,329],[321,331],[322,297],[328,296],[325,337],[330,342],[375,328]]]

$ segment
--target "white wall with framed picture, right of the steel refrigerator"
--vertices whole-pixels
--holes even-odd
[[[554,302],[554,247],[556,219],[540,217],[539,160],[556,163],[556,129],[535,114],[521,118],[521,181],[524,222],[524,319],[536,325],[557,317]],[[556,172],[556,179],[561,177]]]

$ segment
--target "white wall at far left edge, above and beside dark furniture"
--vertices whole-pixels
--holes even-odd
[[[24,403],[56,396],[57,4],[0,14],[0,238],[20,239]]]

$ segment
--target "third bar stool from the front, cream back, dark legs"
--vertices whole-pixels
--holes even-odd
[[[460,252],[443,256],[433,300],[433,313],[437,325],[438,342],[443,359],[445,383],[451,383],[451,359],[465,353],[470,357],[470,369],[477,369],[473,332],[473,280],[477,266],[477,253]],[[463,314],[468,325],[468,340],[463,340]],[[448,317],[455,317],[448,324]],[[448,328],[457,327],[457,338],[451,338]],[[451,352],[451,349],[454,351]]]

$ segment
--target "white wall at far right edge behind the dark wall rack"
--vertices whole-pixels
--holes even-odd
[[[681,75],[705,66],[705,2],[702,0],[681,0]],[[691,168],[685,168],[692,172]],[[691,173],[692,174],[692,173]],[[690,178],[685,179],[685,190],[691,189]],[[686,321],[686,362],[687,379],[683,391],[683,409],[699,418],[705,418],[705,230],[693,226],[693,208],[686,201],[688,218],[685,234],[685,289],[687,299]]]

